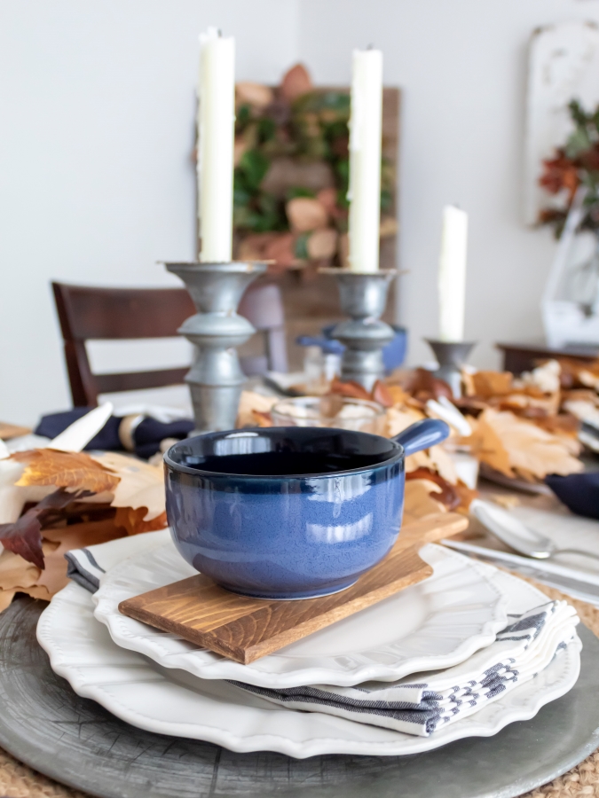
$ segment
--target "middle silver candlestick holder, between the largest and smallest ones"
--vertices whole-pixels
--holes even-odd
[[[371,391],[384,375],[382,348],[393,340],[393,328],[381,321],[387,304],[391,280],[398,271],[385,269],[373,272],[346,269],[322,269],[332,274],[339,284],[339,301],[343,313],[351,321],[335,326],[333,338],[345,345],[341,362],[341,379],[352,379]]]

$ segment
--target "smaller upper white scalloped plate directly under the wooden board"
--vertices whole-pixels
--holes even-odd
[[[197,574],[172,543],[139,552],[103,575],[94,614],[122,648],[203,679],[272,688],[394,681],[457,665],[493,642],[507,622],[506,599],[485,566],[436,544],[425,545],[420,556],[434,569],[428,579],[249,665],[119,613],[122,600]]]

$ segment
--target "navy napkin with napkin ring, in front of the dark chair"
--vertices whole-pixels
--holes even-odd
[[[81,419],[82,416],[91,410],[91,407],[75,407],[70,411],[50,413],[42,417],[40,423],[35,427],[35,434],[43,435],[46,438],[55,438],[63,430],[67,429],[67,426],[73,424],[77,419]],[[111,416],[85,449],[124,451],[119,438],[119,426],[121,423],[122,419],[117,416]],[[164,438],[178,438],[179,440],[186,438],[193,430],[193,426],[192,419],[177,419],[177,421],[171,421],[169,424],[163,424],[162,421],[146,417],[132,432],[135,454],[138,458],[151,458],[152,455],[160,450],[160,442]]]

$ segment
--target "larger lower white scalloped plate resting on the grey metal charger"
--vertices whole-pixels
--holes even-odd
[[[516,577],[496,572],[495,583],[510,596],[509,612],[546,600]],[[164,669],[116,645],[93,617],[91,594],[75,583],[60,591],[44,610],[37,638],[50,655],[52,669],[77,694],[98,701],[129,724],[206,740],[237,752],[268,750],[297,758],[417,754],[455,739],[492,736],[509,723],[531,718],[548,701],[568,692],[580,665],[577,638],[530,682],[475,715],[422,738],[318,712],[286,709],[226,682]]]

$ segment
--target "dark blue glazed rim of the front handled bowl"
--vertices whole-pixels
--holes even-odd
[[[238,437],[245,436],[244,434],[248,434],[247,436],[253,437],[253,434],[264,434],[266,430],[289,430],[290,432],[297,432],[297,430],[305,430],[311,429],[312,427],[309,426],[251,426],[251,427],[243,427],[242,429],[228,429],[223,430],[220,432],[212,432],[212,433],[204,433],[201,435],[194,435],[195,437],[205,437],[210,436],[214,438],[222,438],[226,437],[231,434],[235,434]],[[314,429],[326,431],[327,433],[351,433],[354,435],[366,435],[369,438],[382,438],[383,441],[387,441],[390,443],[390,446],[395,450],[394,453],[391,455],[390,458],[382,460],[380,463],[374,463],[373,465],[360,465],[359,468],[347,468],[343,471],[334,471],[334,472],[316,472],[316,473],[285,473],[285,474],[277,474],[277,473],[225,473],[223,471],[209,471],[208,469],[196,468],[191,465],[182,465],[181,463],[176,463],[171,457],[170,452],[174,449],[177,449],[178,446],[181,446],[185,442],[192,441],[193,438],[183,438],[181,441],[177,441],[177,443],[173,443],[173,445],[166,450],[164,453],[164,465],[169,468],[171,471],[176,471],[178,473],[186,473],[190,474],[191,476],[205,476],[209,477],[209,479],[222,479],[222,480],[235,480],[235,479],[242,479],[242,480],[252,480],[252,481],[282,481],[282,480],[315,480],[315,479],[335,479],[336,477],[340,476],[352,476],[353,474],[358,473],[372,473],[375,471],[381,471],[383,468],[388,468],[390,465],[398,462],[398,460],[404,460],[404,448],[403,446],[394,441],[392,438],[385,438],[382,435],[376,435],[374,433],[366,433],[366,432],[359,432],[356,430],[347,430],[341,427],[336,426],[315,426]]]

